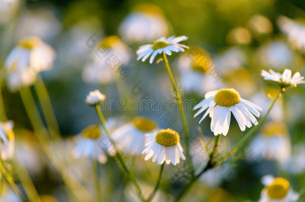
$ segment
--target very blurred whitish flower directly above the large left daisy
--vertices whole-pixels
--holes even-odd
[[[61,29],[60,21],[51,10],[41,7],[26,10],[18,18],[14,37],[38,36],[43,41],[53,42]]]

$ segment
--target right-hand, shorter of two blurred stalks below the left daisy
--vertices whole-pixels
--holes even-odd
[[[55,113],[52,108],[52,103],[48,95],[47,89],[40,75],[37,75],[37,81],[34,84],[34,88],[41,104],[42,112],[45,117],[49,133],[53,140],[59,141],[61,140],[61,136]]]

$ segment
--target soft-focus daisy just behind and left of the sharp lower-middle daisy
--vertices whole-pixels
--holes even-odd
[[[130,123],[113,131],[111,138],[116,146],[129,154],[141,154],[145,145],[145,134],[157,132],[157,124],[145,117],[135,117]]]

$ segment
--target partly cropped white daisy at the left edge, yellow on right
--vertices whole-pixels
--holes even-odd
[[[15,135],[12,128],[12,121],[0,123],[0,155],[3,160],[9,160],[14,155]]]

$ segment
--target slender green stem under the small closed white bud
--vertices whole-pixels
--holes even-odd
[[[121,156],[120,151],[118,151],[114,141],[112,141],[112,139],[111,139],[111,132],[110,132],[109,128],[107,127],[106,120],[105,120],[101,110],[99,109],[98,105],[96,105],[96,112],[97,112],[97,115],[99,117],[100,123],[101,123],[103,129],[105,130],[106,135],[109,138],[109,141],[111,142],[111,144],[113,145],[113,147],[115,149],[116,157],[117,157],[120,165],[122,166],[122,168],[125,171],[127,177],[129,178],[129,180],[134,185],[134,187],[135,187],[135,189],[137,191],[138,197],[141,199],[141,201],[145,201],[144,198],[142,197],[141,189],[140,189],[139,185],[137,184],[137,182],[135,181],[135,178],[134,178],[133,174],[128,170],[128,168],[125,165],[124,160],[123,160],[123,158]]]

